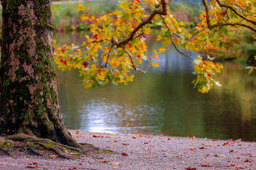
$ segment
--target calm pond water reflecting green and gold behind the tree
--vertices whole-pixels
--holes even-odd
[[[80,35],[55,35],[59,45],[80,43]],[[149,42],[149,56],[159,42]],[[193,57],[197,55],[191,53]],[[222,87],[209,94],[193,89],[193,63],[170,48],[159,68],[137,73],[127,86],[84,89],[78,72],[57,70],[60,110],[68,129],[114,134],[196,136],[256,141],[256,74],[223,63]]]

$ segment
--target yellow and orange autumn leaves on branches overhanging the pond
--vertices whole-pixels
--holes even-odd
[[[123,0],[119,9],[100,18],[83,13],[82,21],[90,22],[90,33],[85,35],[81,45],[55,46],[55,62],[59,69],[80,69],[85,88],[132,81],[132,69],[146,73],[150,66],[159,67],[159,53],[169,45],[182,55],[193,60],[196,78],[193,84],[201,93],[207,93],[214,84],[220,86],[213,77],[220,73],[223,65],[213,62],[213,58],[203,60],[192,58],[180,48],[193,52],[203,52],[207,56],[208,47],[218,47],[220,40],[227,39],[230,28],[245,27],[255,33],[255,0],[211,0],[203,4],[201,22],[192,30],[171,15],[167,0]],[[78,6],[82,11],[86,7]],[[162,47],[154,50],[154,56],[146,55],[146,38],[152,29],[158,29],[156,40]],[[255,36],[255,34],[252,34]],[[147,63],[147,66],[142,63]],[[144,66],[144,68],[142,68]],[[250,67],[251,71],[255,69]]]

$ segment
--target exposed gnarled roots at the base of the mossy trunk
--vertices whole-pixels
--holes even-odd
[[[18,133],[5,138],[0,137],[0,152],[9,154],[9,156],[15,156],[18,152],[30,152],[31,154],[39,156],[70,159],[100,150],[89,144],[81,145],[82,149],[70,147],[58,142],[53,142],[52,140],[23,133]]]

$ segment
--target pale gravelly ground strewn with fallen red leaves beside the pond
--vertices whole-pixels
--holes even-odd
[[[250,169],[256,170],[256,142],[196,137],[111,135],[70,130],[78,142],[106,151],[75,159],[0,154],[0,169]],[[113,152],[108,152],[111,150]]]

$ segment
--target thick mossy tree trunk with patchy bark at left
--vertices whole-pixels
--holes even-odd
[[[0,134],[26,133],[80,147],[60,115],[50,0],[1,4]]]

